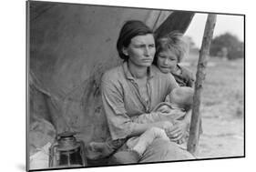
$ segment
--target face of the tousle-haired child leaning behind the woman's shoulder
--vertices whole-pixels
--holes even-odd
[[[169,49],[159,52],[158,66],[162,73],[169,73],[175,71],[178,64],[178,56]]]

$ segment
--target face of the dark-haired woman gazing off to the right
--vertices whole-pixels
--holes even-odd
[[[152,34],[137,35],[130,40],[128,47],[123,48],[128,55],[128,63],[135,66],[151,66],[155,53],[155,40]]]

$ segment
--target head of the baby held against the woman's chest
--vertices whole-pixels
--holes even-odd
[[[171,91],[169,94],[169,101],[171,104],[174,104],[185,111],[189,111],[193,104],[193,96],[193,88],[180,86]]]

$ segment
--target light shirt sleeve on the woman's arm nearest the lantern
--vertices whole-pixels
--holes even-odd
[[[101,83],[102,101],[107,116],[108,128],[113,140],[128,137],[134,127],[123,101],[122,87],[118,86],[118,81],[102,77]]]

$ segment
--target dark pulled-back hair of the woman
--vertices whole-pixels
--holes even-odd
[[[122,58],[124,61],[127,61],[128,56],[123,54],[123,47],[128,47],[128,45],[130,44],[130,40],[133,37],[137,35],[147,34],[153,34],[153,31],[148,27],[148,25],[145,25],[143,22],[138,20],[127,21],[121,28],[118,37],[117,49],[119,57]]]

